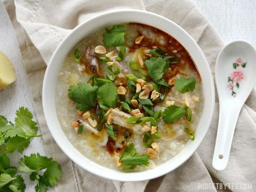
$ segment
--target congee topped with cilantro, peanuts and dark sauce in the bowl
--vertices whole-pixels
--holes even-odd
[[[203,105],[200,74],[187,50],[138,23],[86,36],[64,61],[55,95],[74,147],[124,172],[155,168],[195,140]]]

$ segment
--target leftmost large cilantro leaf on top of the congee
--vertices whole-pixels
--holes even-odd
[[[68,89],[68,97],[77,102],[76,108],[86,111],[94,107],[98,86],[92,86],[87,82],[79,82],[78,86],[72,85]]]

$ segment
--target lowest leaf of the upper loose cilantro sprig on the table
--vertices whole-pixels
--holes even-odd
[[[30,138],[25,139],[19,136],[9,138],[5,153],[11,153],[15,149],[17,149],[18,152],[23,153],[24,149],[27,148],[29,144],[30,144]]]

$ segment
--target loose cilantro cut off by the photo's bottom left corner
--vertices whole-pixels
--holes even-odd
[[[0,154],[0,192],[24,192],[26,185],[16,167],[10,167],[10,159]]]

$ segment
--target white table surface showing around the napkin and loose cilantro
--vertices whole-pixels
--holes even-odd
[[[244,39],[256,46],[256,0],[193,0],[206,15],[210,23],[219,32],[222,40],[228,43],[236,39]],[[12,47],[15,47],[14,33],[10,23],[6,19],[6,12],[0,2],[0,50],[14,63],[17,73],[16,83],[0,93],[0,114],[13,121],[15,111],[20,106],[26,106],[35,116],[32,96],[28,87],[26,73],[20,56],[14,54]],[[7,41],[8,39],[8,41]],[[36,117],[34,118],[37,121]],[[29,147],[24,150],[25,155],[39,152],[45,155],[45,148],[42,138],[33,138]],[[24,156],[14,152],[10,154],[11,164],[18,166],[18,160]],[[35,182],[30,182],[29,174],[22,173],[26,183],[26,192],[34,191]],[[49,188],[54,192],[54,188]]]

